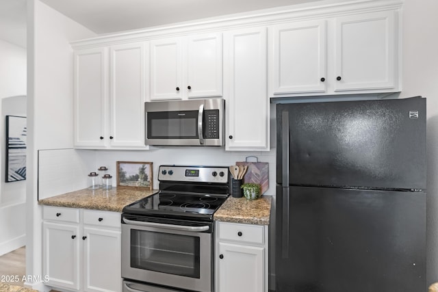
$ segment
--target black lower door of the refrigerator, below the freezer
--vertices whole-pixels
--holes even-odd
[[[281,191],[277,292],[426,291],[424,192],[290,187],[285,215]]]

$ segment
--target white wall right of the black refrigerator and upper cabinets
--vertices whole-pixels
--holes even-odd
[[[427,283],[438,282],[438,1],[405,0],[402,18],[403,90],[427,100]]]

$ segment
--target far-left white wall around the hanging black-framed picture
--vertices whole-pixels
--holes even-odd
[[[26,50],[0,40],[0,255],[25,245],[25,181],[5,183],[3,153],[5,115],[26,115],[26,71]]]

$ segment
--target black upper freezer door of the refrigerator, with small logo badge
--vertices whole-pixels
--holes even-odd
[[[276,119],[279,184],[286,169],[290,185],[426,189],[426,98],[277,105]]]

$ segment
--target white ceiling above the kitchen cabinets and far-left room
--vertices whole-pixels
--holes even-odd
[[[40,0],[96,34],[318,0]],[[26,0],[0,0],[0,39],[25,47]]]

